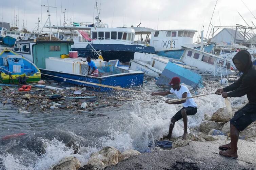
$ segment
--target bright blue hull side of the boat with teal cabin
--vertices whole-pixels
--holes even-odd
[[[86,82],[92,82],[97,84],[104,84],[107,86],[121,87],[121,88],[131,88],[131,87],[140,87],[143,85],[144,73],[131,73],[124,75],[112,75],[112,76],[103,76],[103,77],[91,77],[85,75],[76,75],[69,73],[61,73],[57,71],[49,71],[45,69],[40,69],[43,77],[51,78],[53,80],[65,83],[76,84],[78,86],[86,86],[90,90],[94,91],[112,91],[112,88],[95,86],[92,84],[87,84]],[[84,81],[78,82],[76,80]]]

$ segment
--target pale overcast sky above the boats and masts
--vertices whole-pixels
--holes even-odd
[[[14,16],[19,18],[19,28],[23,25],[32,31],[36,27],[37,18],[41,20],[41,4],[47,5],[47,0],[0,0],[0,17],[4,22],[14,22]],[[95,0],[49,0],[49,6],[57,6],[58,24],[62,11],[66,8],[67,19],[72,21],[93,22],[96,16]],[[109,26],[141,26],[153,29],[208,29],[216,0],[97,0],[100,17]],[[256,0],[243,0],[256,16]],[[256,19],[241,0],[218,0],[213,15],[213,26],[256,25]],[[15,15],[14,15],[15,12]],[[56,24],[56,9],[50,8],[52,25]],[[64,14],[61,15],[63,24]],[[1,19],[0,18],[0,19]],[[47,8],[42,8],[43,25],[47,19]],[[47,28],[44,28],[47,31]]]

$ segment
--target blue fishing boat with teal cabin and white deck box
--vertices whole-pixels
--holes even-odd
[[[86,58],[62,57],[62,54],[68,54],[71,51],[73,43],[71,41],[22,41],[16,42],[14,51],[33,61],[40,69],[43,77],[57,81],[86,86],[96,91],[109,91],[115,89],[115,87],[142,86],[144,72],[120,68],[117,66],[118,60],[116,62],[106,62],[94,59],[99,70],[99,76],[87,76],[88,64]],[[23,46],[27,48],[26,51],[20,51]]]

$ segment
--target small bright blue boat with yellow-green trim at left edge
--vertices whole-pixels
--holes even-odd
[[[37,82],[40,70],[29,60],[11,50],[0,53],[0,81],[3,83]]]

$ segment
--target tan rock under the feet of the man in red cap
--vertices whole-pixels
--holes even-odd
[[[200,142],[205,142],[205,140],[197,135],[193,135],[192,133],[189,133],[187,136],[186,140],[181,139],[182,136],[178,137],[174,142],[173,142],[173,149],[186,146],[188,145],[191,141],[200,141]]]

